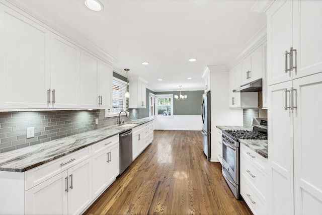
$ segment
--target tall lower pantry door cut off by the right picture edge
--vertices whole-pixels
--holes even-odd
[[[295,214],[316,214],[322,208],[322,73],[294,80],[294,206]],[[315,120],[317,119],[317,120]]]

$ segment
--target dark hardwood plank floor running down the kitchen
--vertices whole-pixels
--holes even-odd
[[[155,130],[152,143],[85,214],[252,214],[208,162],[200,131]]]

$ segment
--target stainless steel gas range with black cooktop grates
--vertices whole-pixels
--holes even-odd
[[[237,199],[240,197],[239,139],[267,139],[267,119],[254,118],[253,130],[222,131],[222,175]]]

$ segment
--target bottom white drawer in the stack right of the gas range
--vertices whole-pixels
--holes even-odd
[[[243,196],[249,208],[256,214],[268,214],[265,199],[258,196],[257,192],[247,183],[244,178],[240,179],[240,194]]]

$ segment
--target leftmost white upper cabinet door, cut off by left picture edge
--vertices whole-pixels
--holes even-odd
[[[0,108],[47,108],[49,31],[0,5]]]

